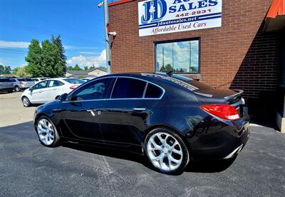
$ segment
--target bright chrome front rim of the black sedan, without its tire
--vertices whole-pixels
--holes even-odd
[[[38,121],[37,131],[38,137],[42,143],[46,144],[47,146],[53,143],[53,125],[46,118],[42,118],[40,121]]]

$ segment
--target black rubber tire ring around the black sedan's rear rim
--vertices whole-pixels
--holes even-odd
[[[175,170],[172,171],[164,171],[161,168],[158,168],[157,166],[155,166],[151,159],[150,156],[148,155],[147,152],[147,143],[150,140],[150,138],[155,135],[156,133],[167,133],[169,134],[172,138],[175,138],[175,140],[180,144],[181,147],[181,151],[182,151],[182,161],[180,163],[180,166],[178,168],[176,168]],[[177,174],[181,174],[186,166],[188,165],[189,161],[190,161],[190,153],[189,150],[185,144],[185,142],[182,140],[182,138],[177,135],[177,133],[175,133],[174,131],[171,131],[168,128],[155,128],[152,131],[150,131],[150,133],[147,133],[147,136],[145,137],[145,143],[143,145],[143,151],[145,153],[145,156],[147,157],[148,161],[151,163],[151,165],[157,169],[158,171],[162,172],[162,173],[166,173],[166,174],[173,174],[173,175],[177,175]],[[169,161],[168,161],[169,162]]]

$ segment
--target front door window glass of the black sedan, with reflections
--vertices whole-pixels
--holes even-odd
[[[72,101],[107,98],[108,88],[113,78],[99,79],[81,87],[73,93]]]

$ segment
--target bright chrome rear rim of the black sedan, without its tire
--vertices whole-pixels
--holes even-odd
[[[174,171],[182,163],[180,143],[169,133],[153,134],[147,142],[147,156],[154,166],[162,171]]]

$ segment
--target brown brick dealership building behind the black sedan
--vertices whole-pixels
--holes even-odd
[[[150,3],[150,6],[155,5],[155,9],[160,10],[157,11],[158,15],[162,16],[161,7],[164,1],[168,4],[170,0],[152,1],[154,3]],[[162,2],[157,4],[157,1]],[[217,20],[222,23],[216,21],[214,28],[210,26],[164,34],[155,34],[152,30],[153,34],[147,36],[142,36],[145,34],[142,32],[145,24],[140,24],[140,20],[143,22],[147,18],[147,11],[150,11],[147,4],[143,5],[147,8],[145,15],[142,15],[145,18],[140,19],[142,16],[139,16],[138,10],[142,1],[110,3],[110,31],[117,33],[111,39],[112,73],[172,69],[177,74],[217,88],[243,89],[252,116],[261,115],[267,120],[275,118],[277,108],[283,111],[284,106],[284,93],[280,86],[285,84],[285,69],[281,66],[284,64],[284,56],[282,58],[281,55],[284,54],[285,36],[285,19],[282,15],[285,14],[284,0],[274,0],[273,4],[272,0],[198,1],[185,1],[188,13],[193,14],[192,11],[201,9],[202,13],[206,13],[211,11],[211,7],[206,8],[206,5],[211,6],[214,1],[219,1],[222,16]],[[182,0],[173,2],[172,5],[183,4]],[[193,7],[202,8],[195,10]],[[180,9],[177,7],[176,11]],[[175,10],[168,7],[167,11]],[[151,15],[153,13],[153,10],[150,11],[149,16],[155,17]],[[193,20],[196,19],[199,16]]]

